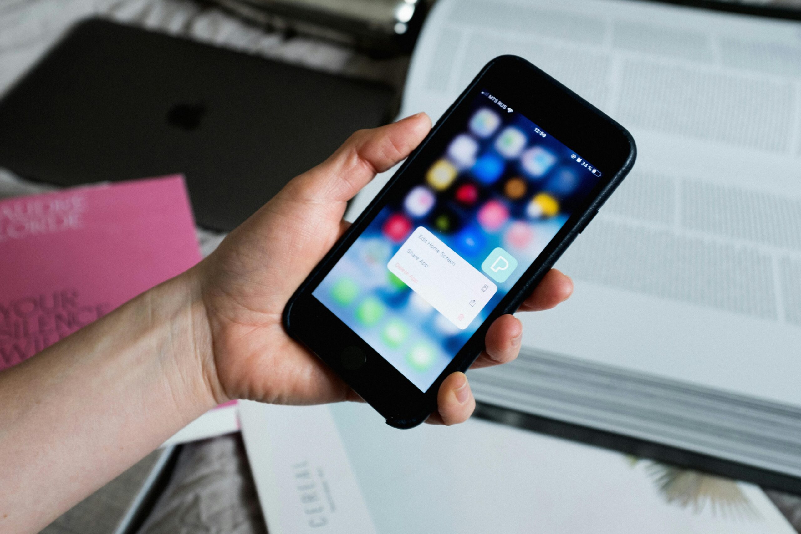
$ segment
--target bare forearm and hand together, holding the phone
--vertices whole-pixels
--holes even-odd
[[[0,532],[38,532],[229,399],[360,400],[286,334],[281,312],[347,228],[348,199],[430,128],[417,114],[356,132],[197,266],[0,373]],[[520,310],[554,307],[572,290],[552,270]],[[473,367],[516,358],[521,336],[520,321],[502,315]],[[461,372],[437,401],[430,424],[461,423],[475,408]]]

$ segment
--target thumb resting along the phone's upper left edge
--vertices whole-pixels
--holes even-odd
[[[331,157],[292,180],[291,190],[304,200],[347,202],[376,173],[408,156],[429,130],[431,119],[422,112],[386,126],[358,130]]]

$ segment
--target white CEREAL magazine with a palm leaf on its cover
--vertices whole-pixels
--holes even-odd
[[[240,413],[256,489],[275,534],[794,532],[751,484],[698,478],[487,421],[397,430],[369,406],[352,403],[244,402]],[[296,491],[292,465],[311,468],[326,486],[301,484]],[[304,513],[304,496],[316,513]],[[322,511],[313,506],[318,502]],[[365,509],[372,524],[364,530],[337,523],[343,515],[366,523]],[[309,528],[310,516],[326,524]]]

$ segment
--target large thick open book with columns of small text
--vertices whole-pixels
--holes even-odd
[[[630,0],[441,0],[401,114],[436,120],[500,54],[621,122],[638,162],[557,263],[574,297],[521,315],[520,358],[472,372],[477,399],[801,488],[799,23]]]

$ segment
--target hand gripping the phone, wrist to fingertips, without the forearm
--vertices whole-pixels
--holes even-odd
[[[284,331],[281,314],[300,283],[348,227],[346,203],[376,172],[405,159],[431,129],[416,114],[373,130],[360,130],[324,163],[293,179],[278,195],[223,240],[194,272],[208,331],[198,344],[210,356],[205,374],[215,399],[276,404],[358,400],[331,369]],[[573,283],[548,275],[521,310],[544,310],[570,296]],[[473,367],[509,362],[520,351],[522,325],[499,317],[486,335],[486,351]],[[206,345],[206,347],[203,347]],[[455,372],[442,383],[429,423],[461,423],[475,399],[467,378]]]

